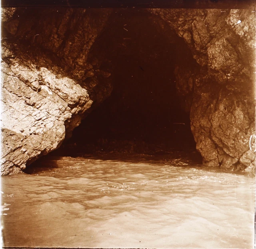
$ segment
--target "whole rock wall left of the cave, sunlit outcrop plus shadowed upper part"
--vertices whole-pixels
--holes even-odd
[[[110,95],[112,86],[110,73],[98,70],[101,62],[87,60],[109,11],[97,19],[84,10],[65,9],[59,16],[56,10],[57,20],[38,19],[33,10],[11,8],[3,13],[1,174],[5,175],[58,148],[92,104]],[[81,18],[84,26],[77,24]],[[88,77],[90,84],[83,82]]]

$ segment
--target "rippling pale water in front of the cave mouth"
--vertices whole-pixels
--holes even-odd
[[[255,179],[245,173],[170,156],[38,164],[2,177],[5,246],[254,248]]]

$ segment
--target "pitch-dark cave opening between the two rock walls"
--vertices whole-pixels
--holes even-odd
[[[197,153],[174,73],[177,65],[197,64],[182,38],[161,25],[142,9],[112,14],[89,55],[104,57],[101,69],[111,72],[112,93],[54,154]]]

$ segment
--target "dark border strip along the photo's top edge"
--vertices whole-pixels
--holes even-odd
[[[255,8],[255,0],[2,0],[2,7],[45,8]]]

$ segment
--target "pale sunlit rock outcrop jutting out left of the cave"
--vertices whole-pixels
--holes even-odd
[[[56,77],[49,67],[36,68],[25,56],[3,46],[3,173],[24,169],[27,161],[57,148],[72,117],[92,104],[86,89],[74,80]]]

